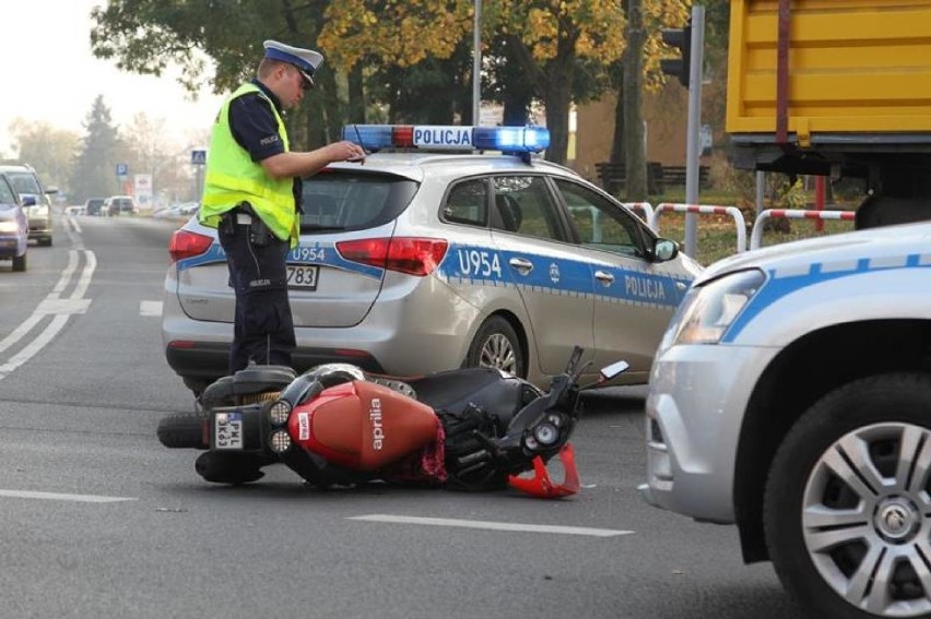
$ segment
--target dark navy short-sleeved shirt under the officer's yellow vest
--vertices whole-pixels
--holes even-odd
[[[278,114],[283,115],[281,100],[264,84],[252,80],[252,84],[261,88],[266,96],[278,108]],[[248,93],[236,97],[229,104],[229,129],[233,138],[245,148],[254,162],[259,163],[273,155],[284,152],[284,143],[278,134],[278,123],[274,112],[268,102],[258,93]],[[294,178],[294,204],[300,211],[300,178]]]

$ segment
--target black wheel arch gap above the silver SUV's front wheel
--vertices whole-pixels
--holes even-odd
[[[882,372],[931,371],[931,320],[835,324],[787,346],[753,389],[734,462],[733,501],[747,563],[769,558],[763,534],[766,478],[786,433],[815,402]]]

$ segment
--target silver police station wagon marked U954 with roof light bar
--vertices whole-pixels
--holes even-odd
[[[298,370],[494,366],[544,383],[579,345],[593,367],[623,358],[625,382],[646,382],[700,267],[573,170],[532,158],[544,129],[343,133],[373,154],[304,180],[287,266]],[[199,391],[225,373],[234,294],[213,229],[192,218],[169,249],[165,353]]]

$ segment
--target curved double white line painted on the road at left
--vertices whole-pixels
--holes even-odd
[[[68,266],[61,272],[58,283],[52,288],[51,293],[36,307],[32,316],[24,320],[16,329],[13,330],[7,337],[0,341],[0,353],[17,343],[33,330],[39,321],[46,316],[51,314],[52,319],[48,326],[39,333],[32,342],[24,346],[5,364],[0,365],[0,380],[7,378],[16,368],[32,359],[39,350],[42,350],[49,342],[55,340],[55,336],[64,328],[68,318],[74,313],[84,313],[91,305],[91,299],[84,299],[83,296],[91,285],[91,278],[94,275],[94,270],[97,267],[97,258],[93,251],[80,250],[84,253],[84,269],[81,271],[81,276],[78,284],[74,286],[71,295],[66,299],[61,299],[61,293],[68,287],[71,276],[78,269],[78,250],[68,252]]]

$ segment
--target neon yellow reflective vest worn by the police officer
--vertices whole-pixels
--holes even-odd
[[[261,164],[254,162],[249,152],[236,142],[229,128],[231,102],[248,93],[258,93],[268,99],[261,88],[247,83],[239,86],[220,108],[210,136],[203,198],[198,218],[204,226],[215,228],[220,225],[220,216],[223,213],[246,201],[252,205],[252,210],[274,236],[290,240],[291,247],[296,247],[299,221],[294,204],[294,180],[275,180],[269,177]],[[268,102],[278,122],[279,138],[287,152],[290,144],[284,121],[274,104],[270,99]]]

